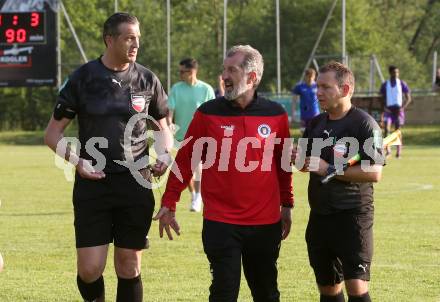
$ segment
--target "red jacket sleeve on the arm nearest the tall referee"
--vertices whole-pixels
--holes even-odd
[[[162,206],[171,211],[176,210],[176,202],[179,201],[183,190],[188,186],[192,178],[191,159],[195,141],[203,136],[203,113],[196,111],[194,117],[182,141],[181,148],[177,152],[176,160],[171,166],[165,192],[162,196]],[[199,161],[198,161],[199,162]],[[197,166],[198,162],[192,163]]]

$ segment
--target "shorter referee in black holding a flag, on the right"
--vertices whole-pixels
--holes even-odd
[[[371,116],[352,106],[354,77],[348,67],[337,62],[323,66],[317,84],[325,112],[306,128],[308,144],[303,148],[306,157],[302,168],[310,172],[311,211],[306,230],[309,261],[320,301],[345,301],[344,280],[348,301],[371,301],[368,281],[373,254],[373,183],[382,175],[381,130]],[[358,143],[362,164],[321,184],[321,178],[344,161],[350,148],[357,149],[356,143],[347,144],[350,139]],[[320,141],[325,145],[318,147]],[[292,160],[300,152],[294,149]]]

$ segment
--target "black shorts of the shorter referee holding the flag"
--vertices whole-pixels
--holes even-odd
[[[370,280],[373,211],[331,215],[310,213],[307,250],[316,282],[335,285],[344,279]]]

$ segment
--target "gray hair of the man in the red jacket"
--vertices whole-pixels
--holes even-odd
[[[263,56],[250,45],[235,45],[226,52],[226,57],[232,57],[236,53],[242,53],[244,55],[243,63],[241,63],[241,67],[244,71],[246,73],[254,71],[257,75],[257,79],[254,83],[254,87],[257,87],[260,84],[264,71]]]

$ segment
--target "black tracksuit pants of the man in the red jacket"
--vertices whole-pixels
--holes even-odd
[[[202,239],[211,266],[210,302],[237,301],[242,262],[254,301],[280,301],[277,259],[281,222],[247,226],[205,219]]]

